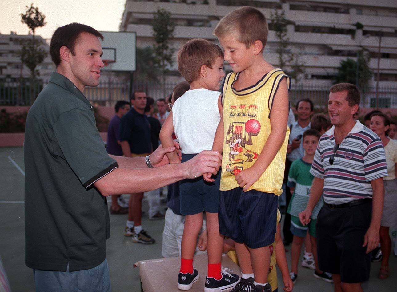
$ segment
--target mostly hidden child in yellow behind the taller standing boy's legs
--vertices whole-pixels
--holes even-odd
[[[283,244],[283,240],[281,239],[281,228],[280,228],[280,222],[281,222],[281,212],[279,209],[277,209],[277,232],[276,236],[274,239],[274,242],[269,246],[270,250],[270,266],[269,266],[269,274],[268,274],[268,283],[270,286],[272,286],[272,291],[273,292],[278,292],[278,283],[277,283],[277,271],[276,271],[276,264],[278,265],[281,275],[283,277],[283,282],[284,282],[284,288],[283,290],[286,292],[291,292],[292,288],[294,286],[291,278],[289,277],[289,270],[288,270],[288,264],[287,264],[287,258],[285,257],[285,248]],[[229,238],[224,240],[227,249],[230,249],[228,252],[226,252],[226,255],[234,261],[237,265],[240,265],[239,260],[237,259],[236,252],[234,250],[234,242],[229,243]],[[248,258],[249,260],[249,258]],[[249,278],[246,281],[240,281],[236,286],[235,290],[238,290],[241,288],[241,286],[246,287],[245,282],[250,282],[251,285],[254,282],[254,279]],[[247,290],[245,290],[247,291]]]

